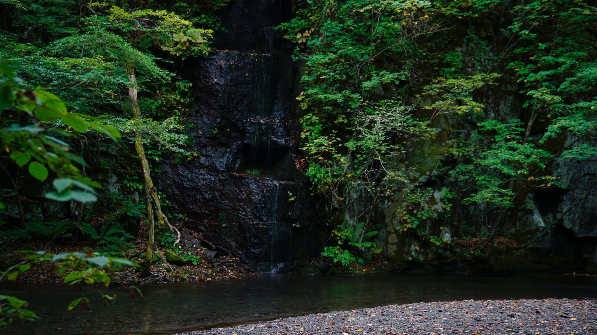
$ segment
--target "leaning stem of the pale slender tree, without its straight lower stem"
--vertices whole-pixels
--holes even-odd
[[[133,65],[130,63],[127,63],[126,67],[128,81],[131,85],[130,88],[128,88],[128,99],[131,104],[131,108],[133,109],[133,117],[135,119],[141,119],[141,108],[139,108],[139,100],[137,100],[137,78],[135,77],[135,69]],[[141,170],[143,171],[143,178],[148,190],[148,194],[152,197],[153,203],[155,204],[155,214],[158,217],[158,227],[163,227],[164,224],[166,224],[171,232],[176,231],[177,237],[174,244],[179,243],[179,229],[173,227],[173,225],[171,225],[170,222],[168,222],[168,218],[162,212],[162,207],[159,203],[158,190],[153,186],[151,171],[149,170],[149,162],[147,162],[147,157],[145,156],[145,150],[143,148],[142,139],[142,135],[139,133],[139,131],[135,131],[135,150],[137,151],[137,155],[139,156],[139,160],[141,161]],[[153,228],[150,229],[149,234],[153,236]]]

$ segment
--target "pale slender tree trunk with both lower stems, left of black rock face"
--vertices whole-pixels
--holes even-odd
[[[139,108],[139,100],[137,100],[137,78],[135,76],[135,68],[132,64],[127,64],[127,75],[128,81],[130,83],[130,87],[128,88],[128,100],[131,104],[131,109],[133,110],[133,117],[135,119],[141,119],[141,108]],[[150,204],[147,207],[147,221],[148,221],[148,236],[147,236],[147,264],[150,264],[150,260],[152,258],[152,248],[153,248],[153,212],[155,210],[155,215],[158,218],[158,227],[163,227],[164,224],[168,226],[171,232],[176,231],[177,238],[174,244],[179,243],[180,241],[180,231],[173,227],[173,225],[168,222],[168,218],[162,212],[162,207],[159,203],[158,197],[158,190],[153,186],[153,181],[151,178],[151,171],[149,170],[149,162],[147,162],[147,157],[145,156],[145,150],[143,148],[143,135],[139,131],[135,131],[135,150],[137,151],[137,156],[139,156],[139,160],[141,162],[141,171],[143,172],[143,179],[144,184],[146,185],[146,196],[152,198],[153,205],[155,209],[151,208]],[[151,213],[150,213],[151,212]],[[149,227],[150,226],[150,227]],[[150,265],[146,265],[150,266]],[[149,271],[149,269],[148,269]]]

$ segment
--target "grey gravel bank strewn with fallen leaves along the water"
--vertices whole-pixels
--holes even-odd
[[[332,311],[176,335],[597,334],[597,300],[464,300]]]

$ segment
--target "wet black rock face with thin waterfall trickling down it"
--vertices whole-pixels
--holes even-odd
[[[289,2],[290,4],[290,2]],[[297,169],[297,68],[283,32],[280,1],[236,1],[224,15],[219,50],[187,63],[197,105],[187,122],[201,158],[166,162],[158,187],[223,255],[260,271],[290,271],[321,253],[330,228],[322,202]]]

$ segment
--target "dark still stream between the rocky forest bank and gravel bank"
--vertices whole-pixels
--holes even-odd
[[[118,294],[104,307],[104,294]],[[0,294],[29,302],[42,320],[13,324],[0,334],[173,334],[293,315],[380,305],[463,299],[597,298],[597,277],[534,272],[494,276],[374,274],[362,277],[257,274],[244,280],[168,283],[128,290],[62,284],[2,284]],[[66,306],[84,293],[87,311]]]

